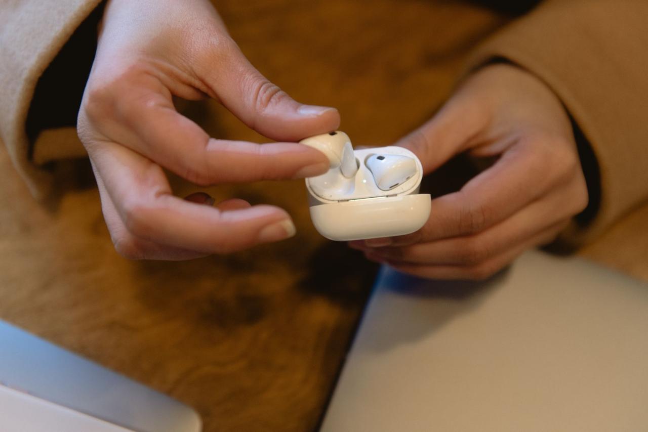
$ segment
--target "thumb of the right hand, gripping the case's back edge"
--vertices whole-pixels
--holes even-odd
[[[432,119],[402,137],[395,145],[417,155],[423,173],[429,174],[474,145],[485,124],[480,106],[457,95]]]

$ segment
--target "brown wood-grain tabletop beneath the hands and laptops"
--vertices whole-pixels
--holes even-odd
[[[441,0],[218,8],[262,73],[297,100],[340,109],[354,144],[379,145],[428,119],[465,54],[507,19]],[[215,137],[264,141],[214,103],[182,109]],[[207,432],[314,429],[376,267],[314,231],[303,182],[210,190],[284,207],[297,225],[291,240],[191,262],[130,262],[113,250],[87,165],[58,166],[58,192],[40,204],[0,150],[0,319],[196,407]],[[172,184],[178,195],[198,190]],[[638,212],[631,245],[621,224],[583,253],[648,280],[648,235],[636,235],[648,210]]]

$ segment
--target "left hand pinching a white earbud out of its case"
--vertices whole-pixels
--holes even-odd
[[[219,100],[274,144],[209,137],[172,97]],[[229,253],[294,234],[277,207],[172,195],[162,167],[198,185],[322,174],[322,153],[294,143],[335,130],[332,108],[295,102],[243,56],[207,0],[110,0],[78,115],[104,218],[128,258]]]

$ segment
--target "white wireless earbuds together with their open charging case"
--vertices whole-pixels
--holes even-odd
[[[430,216],[430,195],[419,194],[422,166],[398,146],[353,150],[348,135],[332,131],[300,141],[329,158],[327,173],[306,179],[310,217],[320,234],[348,241],[399,236]]]

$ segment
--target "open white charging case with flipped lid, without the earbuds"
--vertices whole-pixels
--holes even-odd
[[[421,161],[398,146],[354,150],[358,173],[351,179],[339,168],[306,179],[310,218],[318,233],[338,242],[391,237],[421,229],[430,217],[430,194],[419,194]],[[417,163],[417,172],[400,186],[380,190],[365,165],[370,155],[405,155]]]

